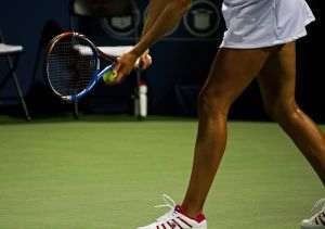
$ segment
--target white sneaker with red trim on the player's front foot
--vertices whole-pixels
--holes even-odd
[[[156,207],[167,206],[171,209],[164,216],[159,217],[155,222],[138,229],[207,229],[207,220],[203,214],[198,214],[194,219],[188,218],[182,214],[181,207],[176,205],[171,198],[164,194],[162,199],[165,204]]]

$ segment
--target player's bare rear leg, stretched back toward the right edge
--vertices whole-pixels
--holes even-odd
[[[325,139],[297,105],[296,46],[278,47],[258,76],[266,113],[276,120],[310,162],[325,185]]]

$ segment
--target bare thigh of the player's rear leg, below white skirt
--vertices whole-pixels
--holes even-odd
[[[258,82],[269,106],[295,104],[296,46],[295,42],[277,47],[258,76]]]

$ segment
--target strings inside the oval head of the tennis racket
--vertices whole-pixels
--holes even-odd
[[[84,40],[69,37],[56,41],[48,55],[48,75],[51,86],[61,96],[76,94],[92,80],[98,59]]]

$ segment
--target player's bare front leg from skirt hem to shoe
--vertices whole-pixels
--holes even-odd
[[[274,48],[221,49],[198,98],[198,131],[190,185],[182,208],[195,217],[203,206],[226,143],[231,104],[251,82]]]

